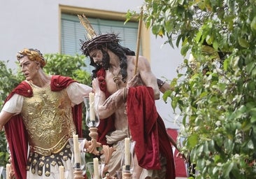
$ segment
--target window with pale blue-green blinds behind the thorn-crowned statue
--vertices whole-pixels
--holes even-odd
[[[136,51],[136,41],[138,34],[138,22],[127,22],[116,20],[103,20],[99,18],[90,18],[88,20],[92,24],[94,31],[97,34],[114,33],[119,34],[120,44]],[[62,13],[62,54],[66,55],[81,55],[80,40],[85,41],[87,35],[85,28],[78,19],[77,15],[69,15]],[[90,68],[90,60],[85,60],[87,70],[92,71]]]

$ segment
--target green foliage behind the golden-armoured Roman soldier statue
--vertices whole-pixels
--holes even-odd
[[[90,73],[85,71],[84,55],[61,55],[45,54],[46,66],[43,68],[45,73],[50,75],[70,76],[79,83],[90,85]],[[17,65],[17,73],[7,68],[8,62],[0,61],[0,106],[10,93],[22,80],[24,76],[20,73],[20,66]],[[83,125],[85,127],[85,125]],[[85,135],[86,137],[86,135]],[[6,166],[8,163],[8,152],[6,150],[6,137],[4,131],[0,131],[0,166]]]

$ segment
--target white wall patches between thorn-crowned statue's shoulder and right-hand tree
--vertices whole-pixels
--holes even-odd
[[[176,69],[183,62],[183,57],[180,55],[178,48],[171,48],[171,45],[168,43],[164,44],[165,41],[166,38],[157,37],[156,39],[155,36],[151,36],[151,44],[154,44],[150,50],[152,72],[159,79],[172,80],[177,76]],[[156,104],[166,127],[178,129],[180,122],[176,119],[177,115],[173,113],[171,100],[169,99],[167,103],[164,103],[161,95],[161,99],[157,100]]]

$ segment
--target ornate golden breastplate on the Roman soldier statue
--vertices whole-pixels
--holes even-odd
[[[66,90],[52,92],[50,86],[31,87],[34,96],[24,97],[21,113],[30,150],[45,156],[55,154],[76,132],[71,101]]]

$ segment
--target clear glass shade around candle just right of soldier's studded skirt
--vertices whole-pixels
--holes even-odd
[[[71,147],[72,157],[71,162],[73,164],[73,169],[76,171],[82,171],[82,175],[85,175],[86,167],[85,167],[85,152],[84,152],[84,146],[86,143],[85,138],[78,138],[79,143],[79,151],[80,151],[80,163],[75,163],[75,154],[73,150],[73,138],[69,138],[69,145]]]

